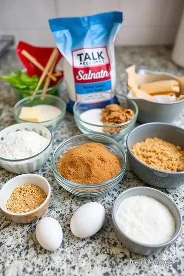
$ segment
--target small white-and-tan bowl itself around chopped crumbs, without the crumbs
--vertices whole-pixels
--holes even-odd
[[[9,212],[6,207],[6,202],[10,198],[12,192],[17,187],[22,186],[24,184],[32,184],[32,185],[38,186],[45,192],[45,194],[47,195],[47,198],[38,208],[36,208],[33,211],[30,211],[27,213],[21,213],[21,214]],[[18,223],[30,223],[39,219],[47,211],[50,202],[51,202],[51,186],[47,179],[45,179],[44,177],[38,174],[30,173],[30,174],[18,175],[10,179],[0,191],[0,208],[2,212],[5,214],[5,216],[7,216],[11,220]]]

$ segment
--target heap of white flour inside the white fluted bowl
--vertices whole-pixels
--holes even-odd
[[[34,131],[10,132],[0,144],[0,156],[12,160],[28,158],[42,151],[49,142]]]

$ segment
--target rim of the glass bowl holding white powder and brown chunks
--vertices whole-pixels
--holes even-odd
[[[127,122],[124,122],[124,123],[121,123],[121,124],[117,124],[117,125],[103,125],[103,124],[102,124],[102,125],[97,125],[97,124],[89,123],[89,122],[87,122],[87,121],[81,119],[80,116],[78,116],[77,113],[76,113],[76,106],[77,106],[77,104],[80,103],[80,101],[81,101],[83,98],[85,98],[86,96],[88,96],[88,95],[92,95],[92,94],[93,94],[93,95],[98,95],[98,94],[102,94],[102,93],[111,94],[111,95],[113,95],[113,96],[123,97],[123,98],[125,98],[128,102],[130,102],[130,103],[134,106],[134,108],[135,108],[135,114],[134,114],[133,118],[130,119],[130,120],[128,120]],[[96,93],[88,93],[87,95],[84,95],[84,97],[82,97],[80,100],[77,100],[77,101],[75,102],[75,104],[74,104],[73,112],[74,112],[74,118],[75,118],[75,119],[77,119],[78,121],[83,122],[83,123],[85,123],[85,124],[87,124],[87,125],[96,126],[96,127],[101,127],[101,128],[102,128],[102,127],[103,127],[103,128],[109,128],[109,127],[113,128],[113,127],[125,126],[125,125],[127,125],[127,124],[132,123],[133,121],[136,121],[136,118],[137,118],[138,113],[139,113],[139,108],[138,108],[137,104],[136,104],[133,100],[128,99],[128,98],[127,98],[126,96],[124,96],[124,95],[117,94],[117,93],[113,93],[113,92],[109,92],[109,91],[102,91],[102,92],[96,92]]]

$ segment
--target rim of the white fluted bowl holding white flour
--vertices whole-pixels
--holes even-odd
[[[31,123],[31,122],[30,122],[30,123],[27,123],[27,122],[25,122],[25,123],[14,124],[14,125],[11,125],[11,126],[8,126],[8,127],[12,127],[12,126],[15,126],[15,125],[18,127],[18,125],[21,125],[21,124],[29,125],[29,124],[35,124],[35,123]],[[38,124],[35,124],[35,125],[37,126]],[[6,127],[6,128],[8,128],[8,127]],[[47,150],[47,149],[50,147],[50,145],[52,144],[52,142],[53,142],[52,132],[51,132],[47,127],[45,127],[45,126],[43,126],[43,125],[41,125],[41,127],[43,127],[45,130],[47,130],[47,131],[50,133],[50,135],[51,135],[51,139],[50,139],[50,142],[49,142],[49,144],[47,145],[47,147],[45,147],[45,148],[44,148],[42,151],[40,151],[39,153],[37,153],[37,154],[35,154],[35,155],[33,155],[33,156],[30,156],[30,157],[27,157],[27,158],[23,158],[23,159],[7,159],[7,158],[3,158],[3,157],[0,156],[0,160],[6,161],[6,162],[23,162],[23,161],[26,161],[26,160],[30,160],[31,158],[34,158],[34,157],[40,155],[41,153],[43,153],[45,150]],[[5,130],[6,128],[2,129],[2,130],[0,131],[0,134],[1,134],[1,132],[2,132],[3,130]],[[0,144],[1,144],[1,143],[0,143]]]

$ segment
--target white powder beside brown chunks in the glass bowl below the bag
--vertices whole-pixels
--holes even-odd
[[[101,108],[92,108],[84,111],[83,113],[80,114],[80,118],[86,121],[87,123],[94,124],[94,125],[101,125],[101,127],[96,127],[96,126],[91,126],[88,124],[85,124],[81,122],[81,124],[93,131],[97,132],[103,132],[103,123],[101,121],[102,117],[102,109]]]

